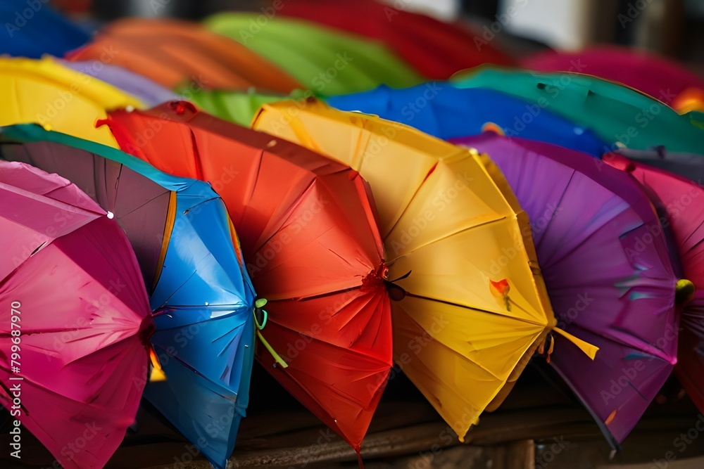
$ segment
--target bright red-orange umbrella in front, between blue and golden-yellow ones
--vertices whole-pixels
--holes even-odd
[[[106,124],[125,150],[220,193],[268,300],[258,360],[359,451],[391,368],[386,268],[363,179],[190,103],[118,110]]]

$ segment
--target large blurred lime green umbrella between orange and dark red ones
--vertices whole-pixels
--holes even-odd
[[[307,21],[276,16],[262,27],[258,20],[255,13],[220,13],[205,24],[277,63],[316,94],[332,96],[379,84],[403,87],[422,82],[383,44]]]

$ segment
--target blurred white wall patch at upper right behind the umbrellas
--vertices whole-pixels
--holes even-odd
[[[501,0],[498,20],[505,20],[507,24],[503,26],[507,32],[558,49],[580,49],[589,41],[589,3],[589,0]]]

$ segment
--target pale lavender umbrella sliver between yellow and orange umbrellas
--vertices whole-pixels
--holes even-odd
[[[167,101],[181,99],[173,91],[152,82],[151,79],[117,65],[106,65],[98,60],[69,62],[68,60],[56,59],[56,61],[64,67],[109,83],[138,98],[139,101],[148,106],[156,106]]]

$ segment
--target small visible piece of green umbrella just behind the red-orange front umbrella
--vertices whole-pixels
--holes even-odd
[[[186,89],[182,91],[188,91]],[[177,90],[177,92],[181,92]],[[198,89],[189,91],[184,97],[191,103],[222,120],[249,127],[254,115],[263,104],[282,101],[284,99],[306,99],[313,96],[310,90],[296,89],[291,94],[277,94],[275,92],[258,91],[256,89],[225,90],[225,89]]]

